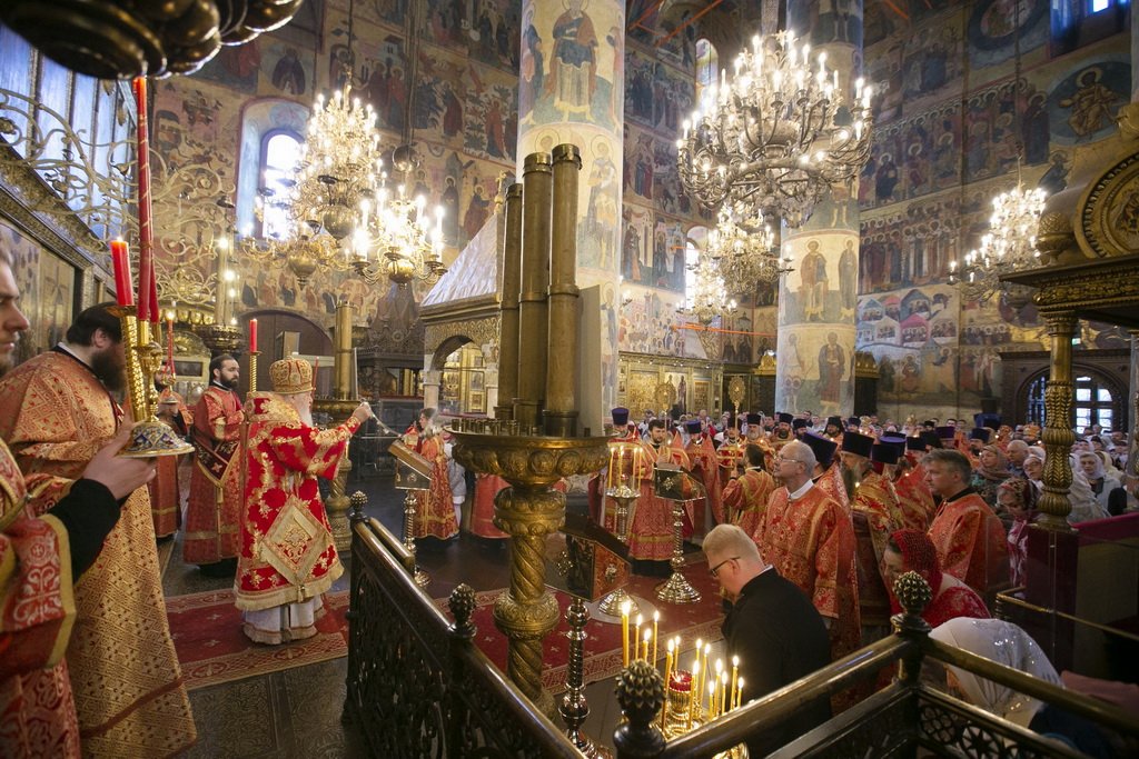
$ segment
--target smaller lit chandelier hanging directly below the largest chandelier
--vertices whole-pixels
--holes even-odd
[[[790,257],[779,257],[779,244],[771,225],[759,216],[755,231],[737,223],[731,209],[720,209],[720,218],[708,232],[706,255],[730,295],[743,298],[757,284],[771,284],[790,271]]]

